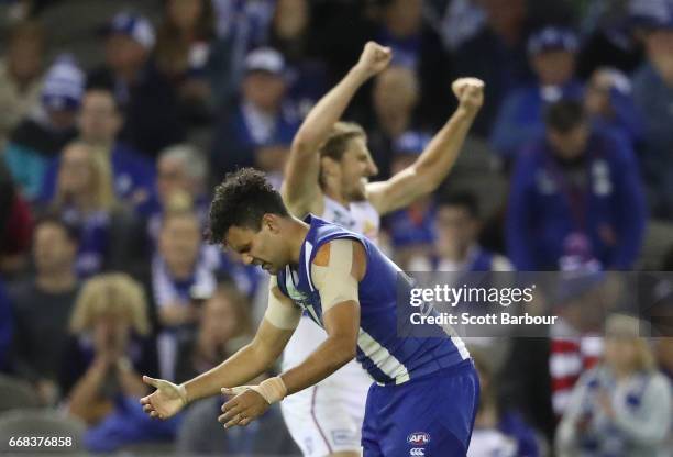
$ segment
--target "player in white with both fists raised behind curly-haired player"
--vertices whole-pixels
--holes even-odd
[[[453,82],[459,108],[416,163],[380,182],[366,146],[366,134],[340,122],[355,92],[384,70],[390,49],[365,45],[357,64],[309,112],[293,142],[282,193],[298,218],[316,214],[376,241],[380,216],[434,191],[451,170],[483,103],[482,81]],[[304,360],[326,339],[305,314],[284,354],[283,368]],[[306,457],[360,455],[360,430],[371,378],[352,361],[326,381],[282,403],[286,425]]]

